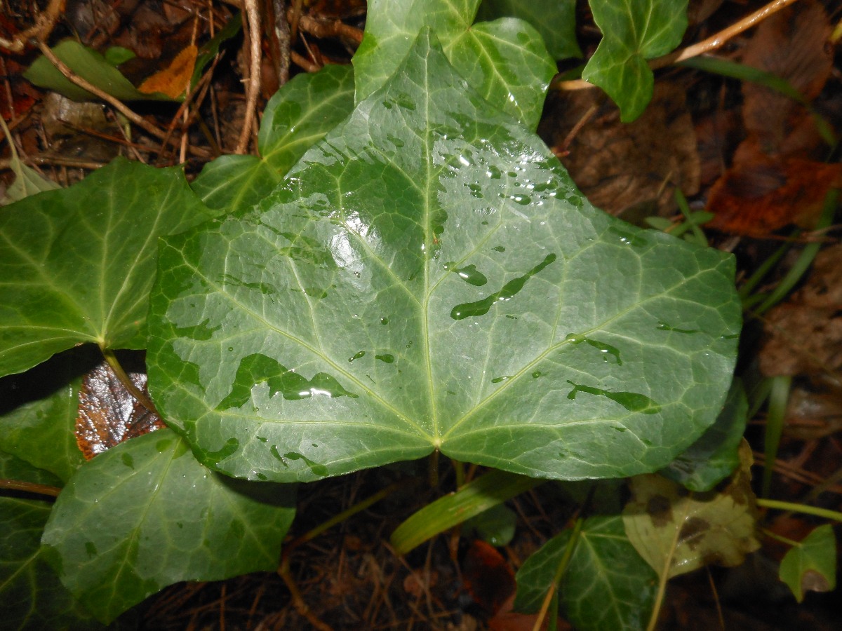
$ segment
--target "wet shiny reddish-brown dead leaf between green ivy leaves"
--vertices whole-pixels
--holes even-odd
[[[136,388],[148,395],[146,373],[127,374]],[[85,459],[163,427],[160,417],[126,390],[108,363],[100,363],[85,375],[76,419],[76,441]]]

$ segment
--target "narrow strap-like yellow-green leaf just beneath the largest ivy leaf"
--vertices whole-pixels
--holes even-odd
[[[541,484],[541,481],[505,471],[490,471],[455,493],[440,497],[415,512],[392,533],[392,547],[397,554],[406,554],[466,519],[482,515],[495,506],[502,506],[504,501],[519,496]]]

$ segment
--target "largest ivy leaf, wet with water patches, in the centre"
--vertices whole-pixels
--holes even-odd
[[[440,448],[659,469],[731,379],[733,258],[593,209],[429,32],[258,208],[163,242],[150,391],[205,464],[312,480]]]

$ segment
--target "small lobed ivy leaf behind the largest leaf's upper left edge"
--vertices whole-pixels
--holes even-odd
[[[350,114],[354,106],[351,66],[324,66],[300,74],[269,99],[255,156],[221,156],[191,184],[209,208],[250,208],[264,199],[304,152]]]

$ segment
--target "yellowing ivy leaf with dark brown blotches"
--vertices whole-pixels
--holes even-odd
[[[629,481],[626,533],[659,575],[671,578],[708,564],[733,567],[760,547],[751,460],[751,448],[743,441],[740,466],[727,485],[706,493],[687,491],[660,475]]]

